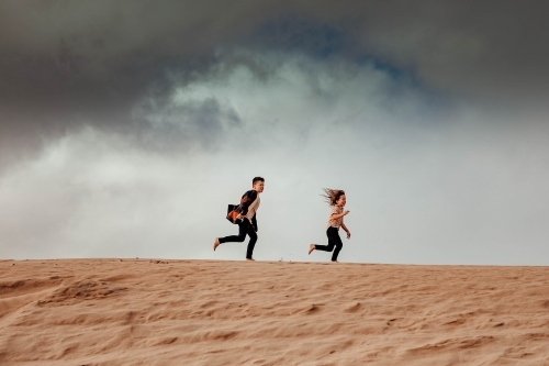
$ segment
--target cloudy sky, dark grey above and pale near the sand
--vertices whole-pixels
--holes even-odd
[[[0,0],[0,258],[549,265],[546,1]],[[341,233],[344,236],[344,233]]]

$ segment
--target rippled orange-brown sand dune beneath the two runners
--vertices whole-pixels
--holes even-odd
[[[0,365],[549,365],[548,281],[549,267],[1,260]]]

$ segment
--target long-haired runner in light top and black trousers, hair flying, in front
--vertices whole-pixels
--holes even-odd
[[[326,202],[332,207],[332,212],[329,213],[328,225],[326,230],[326,235],[328,236],[328,245],[318,245],[311,244],[309,245],[309,254],[311,254],[314,249],[332,252],[332,262],[337,262],[337,255],[339,251],[341,251],[343,243],[339,237],[339,228],[343,228],[347,233],[347,239],[350,239],[350,231],[345,226],[343,222],[343,218],[349,213],[349,211],[345,210],[345,203],[347,203],[347,199],[345,197],[345,191],[340,189],[329,189],[324,188],[324,195],[322,195]],[[335,249],[334,249],[335,247]]]

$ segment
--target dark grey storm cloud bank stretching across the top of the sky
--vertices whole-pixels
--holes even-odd
[[[269,74],[236,48],[366,58],[426,88],[516,108],[537,108],[548,95],[544,1],[93,0],[0,8],[3,160],[86,124],[155,131],[134,108],[153,98],[173,118],[173,88],[211,77],[220,64]],[[204,113],[190,113],[189,123],[211,132]]]

